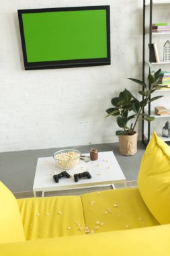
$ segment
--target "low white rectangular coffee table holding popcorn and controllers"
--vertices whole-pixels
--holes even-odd
[[[89,154],[83,155],[89,156]],[[66,170],[71,175],[71,178],[64,177],[60,179],[59,183],[55,183],[52,175],[62,171],[56,166],[53,157],[38,158],[33,186],[34,196],[36,197],[36,192],[40,191],[44,196],[44,192],[47,191],[80,189],[101,185],[113,185],[114,187],[114,183],[124,183],[126,186],[126,178],[112,151],[99,152],[99,158],[96,161],[85,162],[85,160],[80,160],[75,168]],[[82,178],[76,183],[74,174],[85,171],[91,174],[91,179]]]

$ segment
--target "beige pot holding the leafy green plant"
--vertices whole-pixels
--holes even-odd
[[[137,153],[138,133],[134,135],[118,135],[119,151],[124,156],[133,156]]]

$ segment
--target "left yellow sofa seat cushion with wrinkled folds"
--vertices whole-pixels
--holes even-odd
[[[27,240],[85,234],[81,197],[17,199]]]

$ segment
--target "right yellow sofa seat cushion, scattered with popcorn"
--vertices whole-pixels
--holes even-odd
[[[81,196],[81,201],[89,232],[159,225],[148,211],[138,188],[87,193]]]

